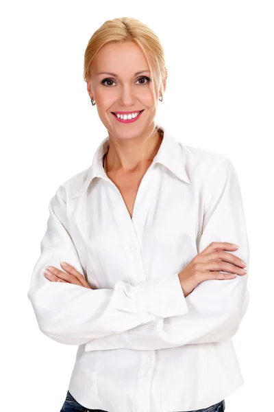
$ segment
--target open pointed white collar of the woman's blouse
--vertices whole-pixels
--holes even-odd
[[[185,168],[186,146],[184,146],[182,142],[178,142],[165,127],[160,127],[164,130],[164,137],[151,165],[153,165],[153,163],[161,163],[166,166],[166,168],[171,170],[173,174],[179,177],[179,179],[182,179],[182,181],[186,183],[190,183],[190,179]],[[77,186],[70,198],[75,198],[84,194],[88,188],[88,185],[92,179],[95,179],[95,177],[101,177],[103,179],[107,178],[103,168],[103,156],[106,152],[108,152],[108,147],[109,136],[105,137],[105,139],[101,141],[101,144],[97,148],[93,157],[92,165],[90,165],[87,169],[84,181],[82,181],[81,185]]]

